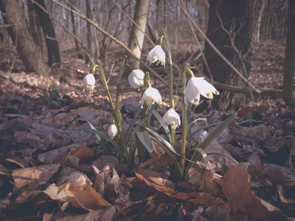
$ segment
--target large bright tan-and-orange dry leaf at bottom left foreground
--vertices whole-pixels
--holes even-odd
[[[66,183],[57,187],[52,184],[43,193],[48,194],[54,200],[71,202],[74,206],[88,211],[111,205],[89,185],[76,186]]]

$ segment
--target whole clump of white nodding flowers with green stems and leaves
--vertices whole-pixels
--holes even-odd
[[[84,78],[83,81],[84,88],[89,88],[90,93],[93,92],[95,83],[93,74],[95,73],[95,68],[98,68],[104,86],[106,87],[107,95],[115,118],[108,131],[109,136],[98,131],[88,120],[87,122],[89,123],[90,128],[79,127],[77,129],[89,131],[95,134],[106,154],[114,155],[119,161],[124,162],[130,166],[135,166],[134,156],[136,150],[138,152],[140,163],[148,160],[149,154],[153,151],[153,140],[165,149],[165,151],[169,154],[174,162],[174,165],[169,167],[172,179],[175,181],[183,181],[188,178],[189,168],[193,164],[196,164],[195,162],[200,160],[200,158],[203,157],[207,166],[207,156],[210,154],[219,154],[207,154],[204,150],[234,120],[236,114],[231,115],[223,122],[215,123],[212,125],[207,125],[206,118],[200,118],[194,120],[193,122],[190,122],[189,111],[187,110],[187,101],[197,105],[200,101],[200,95],[208,99],[213,99],[212,93],[218,95],[219,92],[215,89],[214,86],[205,81],[204,78],[194,77],[189,64],[186,63],[183,65],[181,71],[182,136],[177,138],[176,130],[180,126],[180,117],[175,111],[175,107],[177,106],[178,98],[173,97],[173,63],[171,57],[171,48],[169,38],[164,30],[162,32],[162,36],[157,41],[157,45],[148,53],[147,59],[150,65],[154,62],[157,62],[157,65],[159,63],[165,65],[166,55],[164,50],[162,49],[162,44],[164,44],[164,47],[168,52],[168,60],[170,65],[170,109],[166,112],[163,118],[157,112],[158,105],[162,105],[162,98],[159,91],[151,86],[149,73],[144,73],[140,69],[133,70],[133,68],[127,64],[127,56],[125,55],[119,73],[117,83],[117,99],[115,105],[109,92],[103,67],[99,60],[97,65],[95,65],[90,70],[90,73]],[[130,85],[138,90],[140,90],[140,88],[143,88],[143,90],[141,107],[135,113],[127,132],[123,134],[121,129],[122,115],[119,111],[119,95],[121,79],[126,68],[130,70],[130,74],[128,76],[128,81]],[[139,120],[139,122],[136,122],[140,114],[141,119]],[[165,130],[164,138],[160,136],[153,128],[155,118],[161,123],[162,127]],[[191,129],[193,125],[199,120],[206,121],[206,126],[192,132]],[[170,125],[170,129],[168,128],[168,125]],[[207,128],[213,126],[216,126],[214,131],[211,132],[202,142],[192,141],[196,133],[204,131]],[[181,152],[177,153],[174,148],[174,143],[180,139]],[[192,146],[192,148],[188,149],[186,148],[186,146]],[[233,159],[232,157],[227,157],[235,161],[235,159]]]

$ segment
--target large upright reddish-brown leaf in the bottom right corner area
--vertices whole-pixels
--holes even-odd
[[[285,221],[284,213],[275,206],[253,195],[250,189],[250,175],[247,173],[247,163],[230,166],[222,189],[230,204],[231,213],[245,213],[251,219],[263,221]]]

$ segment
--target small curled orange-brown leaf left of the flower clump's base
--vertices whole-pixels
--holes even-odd
[[[79,146],[76,150],[69,152],[66,156],[63,157],[60,165],[69,166],[69,156],[74,155],[80,159],[80,161],[91,161],[93,157],[93,152],[88,146]]]

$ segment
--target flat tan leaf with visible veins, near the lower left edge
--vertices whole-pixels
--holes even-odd
[[[59,164],[35,166],[12,171],[14,190],[21,191],[25,196],[27,191],[39,190],[59,169]]]

